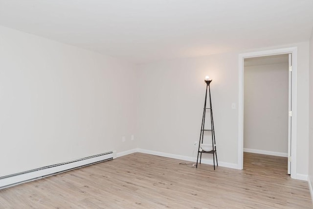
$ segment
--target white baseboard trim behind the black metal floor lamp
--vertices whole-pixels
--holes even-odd
[[[182,160],[182,161],[190,161],[190,162],[194,162],[194,163],[197,162],[197,158],[183,156],[183,155],[175,155],[175,154],[164,153],[164,152],[157,152],[157,151],[152,151],[152,150],[147,150],[147,149],[137,149],[137,152],[150,154],[150,155],[161,156],[161,157],[166,157],[166,158],[173,158],[173,159],[178,159],[178,160]],[[213,160],[202,159],[201,163],[213,165]],[[226,163],[226,162],[220,162],[219,161],[219,166],[238,169],[238,165],[235,164],[235,163]]]

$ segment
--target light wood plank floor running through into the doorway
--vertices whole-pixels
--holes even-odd
[[[0,190],[1,209],[312,209],[287,160],[245,153],[244,170],[134,153]]]

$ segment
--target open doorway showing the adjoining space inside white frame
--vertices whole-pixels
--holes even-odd
[[[276,170],[283,163],[279,166],[290,174],[289,58],[244,59],[244,169],[254,165]]]

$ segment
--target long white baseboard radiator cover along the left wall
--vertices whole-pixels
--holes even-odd
[[[42,179],[87,165],[112,160],[114,151],[0,177],[0,189]]]

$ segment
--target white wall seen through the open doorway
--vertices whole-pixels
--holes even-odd
[[[244,148],[287,155],[288,72],[288,59],[245,67]]]

